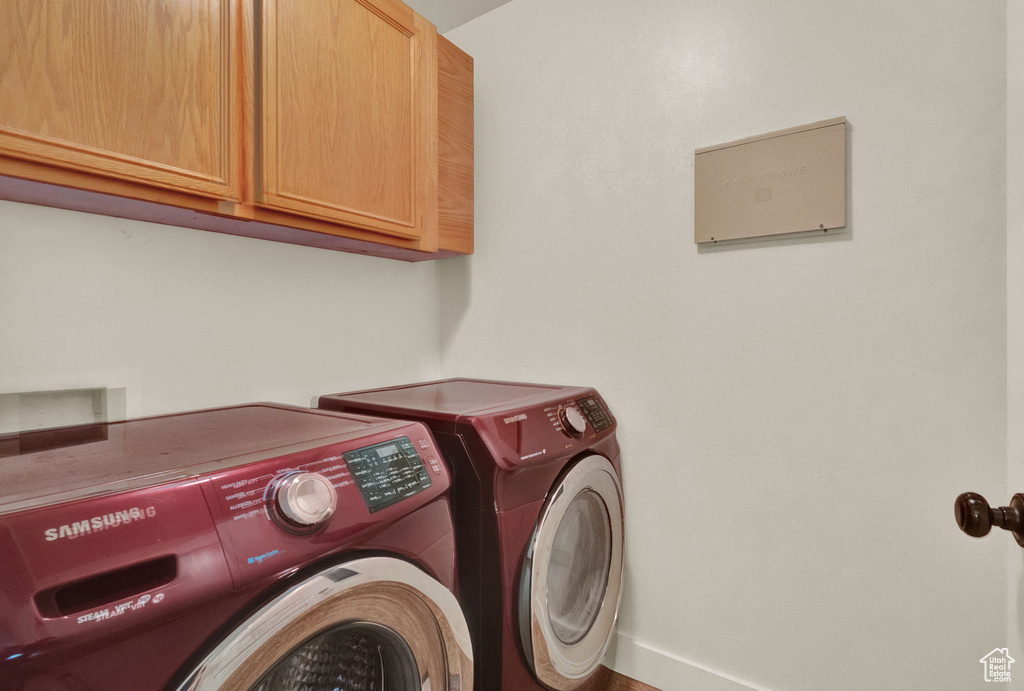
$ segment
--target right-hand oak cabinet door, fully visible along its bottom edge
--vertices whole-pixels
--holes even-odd
[[[437,234],[437,31],[396,0],[263,0],[256,203]]]

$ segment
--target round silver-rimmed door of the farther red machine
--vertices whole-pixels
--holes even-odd
[[[588,456],[553,488],[534,530],[519,591],[519,635],[541,683],[581,686],[611,641],[623,581],[623,489]]]

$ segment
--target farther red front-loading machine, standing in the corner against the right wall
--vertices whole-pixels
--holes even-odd
[[[425,423],[454,476],[476,687],[585,686],[622,594],[615,419],[589,388],[453,379],[319,398]]]

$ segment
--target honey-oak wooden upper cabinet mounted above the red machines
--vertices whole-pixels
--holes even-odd
[[[0,0],[0,200],[473,251],[473,60],[398,0]]]

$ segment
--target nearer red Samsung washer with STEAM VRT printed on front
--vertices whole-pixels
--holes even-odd
[[[0,687],[470,688],[438,459],[272,403],[0,436]]]

